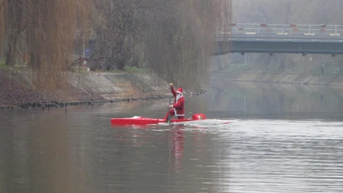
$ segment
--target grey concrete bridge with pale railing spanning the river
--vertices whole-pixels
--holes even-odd
[[[218,29],[213,55],[343,54],[343,25],[230,23]]]

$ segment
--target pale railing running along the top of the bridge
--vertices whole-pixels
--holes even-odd
[[[231,23],[228,28],[217,29],[217,37],[235,36],[323,36],[341,38],[343,25],[296,25],[296,24],[263,24]],[[292,37],[289,37],[292,38]]]

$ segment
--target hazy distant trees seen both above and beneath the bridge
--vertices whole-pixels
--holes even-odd
[[[326,24],[342,25],[343,1],[341,0],[240,0],[233,1],[233,21],[235,23],[296,23],[296,24]],[[281,69],[292,68],[297,64],[305,65],[320,63],[321,60],[341,60],[342,56],[331,58],[330,55],[311,56],[300,54],[249,54],[252,63],[263,63],[266,67],[278,65]]]

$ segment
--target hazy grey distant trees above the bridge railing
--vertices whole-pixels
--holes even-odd
[[[331,0],[240,0],[233,1],[237,23],[341,23],[343,1]]]

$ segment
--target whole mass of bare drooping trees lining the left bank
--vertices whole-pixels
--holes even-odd
[[[231,0],[0,0],[2,58],[11,66],[28,53],[43,89],[58,87],[60,72],[85,55],[93,69],[144,66],[196,87],[206,80],[215,27],[228,25],[230,9]]]

